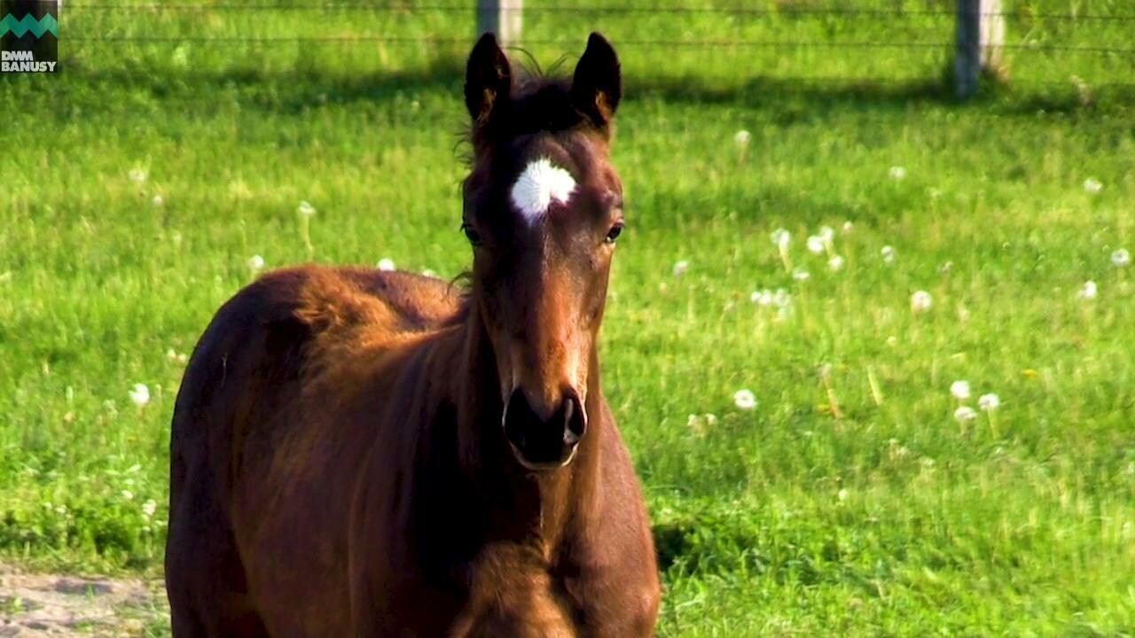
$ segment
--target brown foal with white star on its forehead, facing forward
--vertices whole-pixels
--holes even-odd
[[[636,637],[658,577],[596,338],[622,185],[619,60],[465,81],[471,289],[266,275],[201,337],[174,413],[174,635]]]

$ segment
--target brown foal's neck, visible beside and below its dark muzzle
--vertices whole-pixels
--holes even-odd
[[[451,371],[457,408],[457,453],[461,476],[482,513],[489,537],[555,542],[570,524],[586,522],[598,492],[600,436],[606,427],[599,392],[598,359],[590,355],[587,398],[588,433],[575,459],[565,468],[530,472],[513,457],[501,426],[503,404],[496,359],[477,311],[464,331],[464,363]]]

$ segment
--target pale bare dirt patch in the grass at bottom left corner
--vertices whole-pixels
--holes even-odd
[[[161,581],[23,573],[0,564],[0,638],[166,633],[165,598]]]

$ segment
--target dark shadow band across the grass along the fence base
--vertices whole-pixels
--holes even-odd
[[[8,93],[25,98],[41,94],[48,109],[117,110],[127,102],[158,102],[195,110],[237,103],[242,109],[293,114],[314,104],[386,102],[398,96],[443,93],[456,99],[463,83],[463,64],[437,58],[412,72],[346,74],[305,68],[266,72],[254,67],[226,69],[69,68],[53,82],[20,76],[0,77]],[[698,76],[637,76],[625,78],[630,100],[649,98],[688,104],[731,104],[775,112],[774,121],[791,123],[839,110],[896,111],[911,107],[983,108],[995,115],[1033,115],[1037,111],[1090,111],[1098,104],[1135,106],[1135,85],[1107,85],[1085,94],[1073,84],[994,85],[984,95],[961,103],[947,77],[907,79],[794,79],[756,76],[714,78]],[[61,96],[66,99],[59,99]],[[124,98],[124,96],[128,96]]]

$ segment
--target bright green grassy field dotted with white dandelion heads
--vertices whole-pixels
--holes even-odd
[[[1031,17],[1118,0],[1006,5],[1010,42],[1133,41]],[[185,355],[250,260],[468,265],[469,43],[77,40],[465,37],[471,16],[68,9],[64,72],[0,77],[0,557],[154,576]],[[948,42],[948,17],[531,16],[545,62],[595,27],[639,42],[603,366],[659,635],[1135,633],[1133,58],[1014,49],[959,106],[940,49],[645,43]]]

